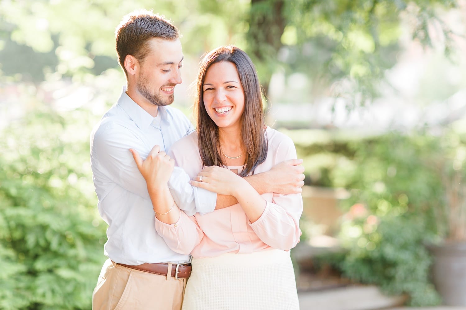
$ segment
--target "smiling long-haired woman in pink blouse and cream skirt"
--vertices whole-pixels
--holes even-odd
[[[183,309],[299,309],[289,250],[301,234],[301,194],[259,195],[242,178],[296,158],[295,146],[264,125],[259,80],[239,48],[222,46],[205,56],[197,91],[197,132],[172,145],[170,156],[192,185],[238,203],[193,217],[176,204],[156,213],[168,246],[192,253]],[[151,174],[144,178],[151,184]]]

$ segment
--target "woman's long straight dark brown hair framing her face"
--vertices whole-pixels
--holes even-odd
[[[222,160],[219,127],[207,114],[204,106],[203,84],[207,70],[214,63],[228,61],[236,66],[244,90],[244,111],[241,116],[241,145],[246,152],[245,165],[239,174],[249,175],[267,157],[264,111],[259,78],[253,62],[243,50],[236,46],[220,46],[207,53],[199,66],[195,109],[197,110],[197,132],[199,153],[204,166],[225,166]]]

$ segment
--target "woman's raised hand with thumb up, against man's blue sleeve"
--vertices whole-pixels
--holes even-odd
[[[157,185],[167,185],[173,172],[175,161],[164,151],[160,152],[159,145],[155,145],[152,148],[145,160],[139,156],[136,150],[130,149],[130,152],[133,154],[137,169],[139,169],[139,172],[141,172],[146,180],[148,188]]]

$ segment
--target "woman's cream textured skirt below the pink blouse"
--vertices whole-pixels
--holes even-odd
[[[183,310],[298,310],[290,252],[193,258]]]

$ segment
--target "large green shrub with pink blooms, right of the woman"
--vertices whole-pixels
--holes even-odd
[[[451,191],[464,179],[464,137],[452,130],[441,136],[389,133],[352,140],[345,150],[328,177],[333,186],[351,191],[342,202],[347,213],[340,240],[346,252],[320,261],[387,294],[407,294],[410,305],[439,304],[425,244],[450,236],[452,229],[464,236],[465,221],[458,218],[465,213],[465,190]],[[452,202],[458,197],[463,200],[457,211]]]

